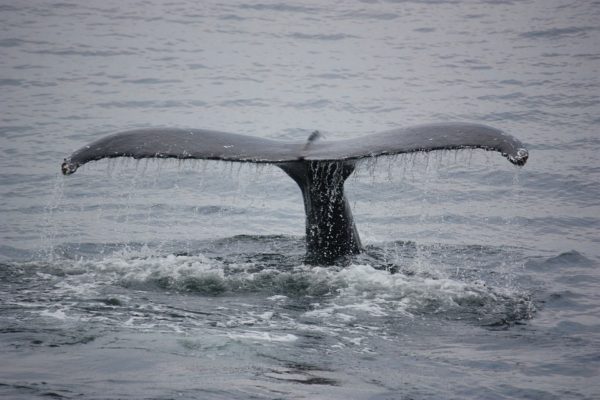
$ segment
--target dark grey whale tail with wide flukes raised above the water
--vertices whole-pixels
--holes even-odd
[[[300,187],[306,212],[306,262],[333,264],[362,250],[344,182],[357,160],[433,150],[497,151],[522,166],[529,156],[514,137],[489,126],[429,124],[355,139],[324,141],[314,132],[307,142],[286,142],[200,129],[154,128],[116,133],[67,157],[65,175],[102,158],[206,159],[274,164]]]

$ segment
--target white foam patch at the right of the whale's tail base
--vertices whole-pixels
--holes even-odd
[[[431,277],[430,271],[424,276],[407,276],[369,265],[351,265],[343,269],[314,267],[309,271],[319,279],[339,284],[336,296],[312,303],[312,309],[303,314],[303,317],[318,319],[329,327],[340,322],[354,325],[356,321],[362,321],[364,324],[365,317],[402,315],[412,319],[424,311],[460,312],[473,304],[493,304],[500,301],[500,297],[516,295],[514,290],[492,289],[481,281],[462,282],[441,274]]]

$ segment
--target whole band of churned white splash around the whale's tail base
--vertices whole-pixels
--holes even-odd
[[[144,247],[117,251],[100,260],[61,260],[46,271],[46,279],[54,281],[52,296],[103,298],[105,305],[116,309],[130,305],[127,298],[110,295],[123,290],[150,297],[161,293],[191,295],[206,301],[219,297],[219,304],[251,296],[259,303],[270,304],[266,309],[263,305],[250,307],[239,317],[227,311],[216,322],[224,327],[247,325],[248,320],[254,321],[251,325],[287,324],[290,321],[281,320],[281,313],[288,307],[299,312],[293,317],[296,323],[324,327],[332,321],[350,326],[390,317],[505,325],[529,319],[535,312],[531,296],[518,287],[440,271],[428,260],[419,261],[416,268],[400,270],[370,264],[278,268],[268,263],[215,260],[201,254],[161,255]],[[151,316],[163,311],[155,310]],[[69,309],[63,312],[70,314]],[[130,324],[137,321],[143,325],[138,317]]]

